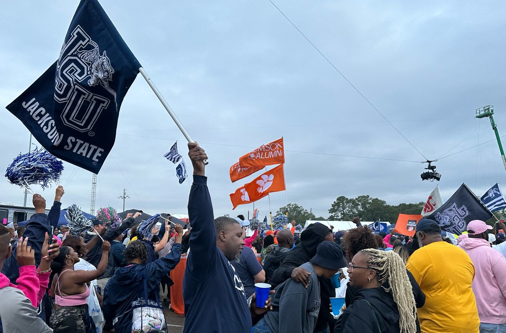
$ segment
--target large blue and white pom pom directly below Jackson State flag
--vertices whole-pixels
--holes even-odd
[[[52,181],[58,182],[62,171],[62,161],[45,149],[36,148],[27,154],[19,154],[7,168],[5,176],[11,184],[27,189],[33,184],[46,188]]]

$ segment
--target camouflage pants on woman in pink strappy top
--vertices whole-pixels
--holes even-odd
[[[88,305],[62,306],[53,311],[51,326],[55,333],[96,333]]]

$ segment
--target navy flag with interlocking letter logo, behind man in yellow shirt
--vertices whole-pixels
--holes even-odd
[[[470,221],[486,221],[492,216],[469,187],[462,184],[450,199],[426,218],[437,221],[442,230],[461,234]]]

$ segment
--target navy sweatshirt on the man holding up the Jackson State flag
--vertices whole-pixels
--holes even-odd
[[[207,177],[194,175],[188,200],[190,253],[183,280],[184,333],[249,333],[251,314],[234,268],[216,246]]]

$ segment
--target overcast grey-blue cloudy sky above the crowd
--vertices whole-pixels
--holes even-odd
[[[421,154],[269,0],[100,3],[206,150],[216,216],[252,212],[251,204],[232,211],[229,194],[260,172],[232,183],[229,167],[281,136],[286,194],[270,196],[273,214],[286,200],[324,217],[339,196],[370,195],[391,205],[425,201],[437,182],[420,179],[426,165],[419,162],[453,153],[434,163],[443,199],[462,182],[481,196],[504,179],[490,123],[474,118],[475,109],[494,105],[500,135],[506,133],[502,1],[273,0]],[[77,5],[3,4],[0,105],[12,102],[57,59]],[[0,117],[5,170],[28,151],[29,132],[5,108]],[[138,75],[98,175],[96,209],[121,211],[117,197],[126,188],[126,209],[186,214],[191,178],[179,184],[176,165],[163,158],[176,140],[191,173],[184,136]],[[91,172],[64,166],[63,207],[76,203],[89,211]],[[44,195],[53,197],[54,188]],[[0,202],[22,205],[23,189],[2,177]],[[262,217],[268,214],[268,199],[255,207]]]

